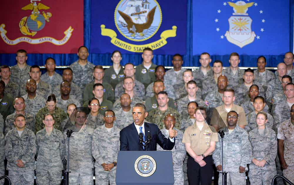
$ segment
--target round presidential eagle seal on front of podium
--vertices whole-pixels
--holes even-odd
[[[135,171],[142,177],[148,177],[154,174],[156,170],[156,162],[149,155],[142,155],[135,161]]]

